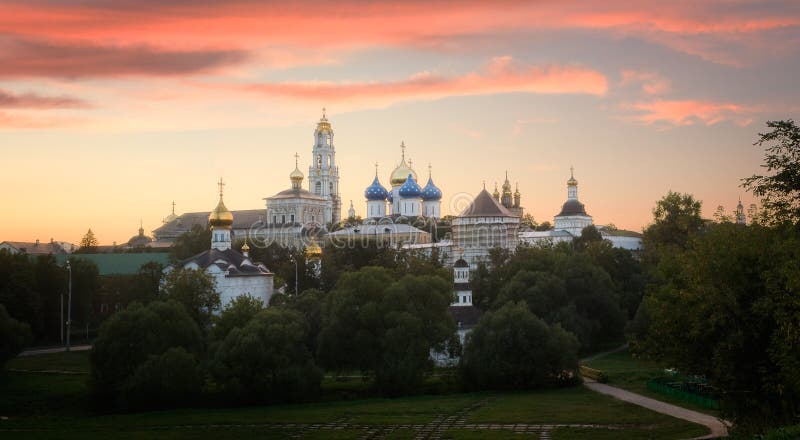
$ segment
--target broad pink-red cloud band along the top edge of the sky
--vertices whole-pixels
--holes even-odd
[[[18,0],[0,5],[0,34],[60,41],[87,46],[87,50],[97,42],[123,51],[145,47],[153,52],[159,48],[172,51],[178,60],[172,61],[169,56],[154,59],[147,51],[134,58],[145,57],[156,71],[162,63],[173,66],[166,68],[169,73],[216,66],[221,61],[215,56],[242,48],[290,47],[310,51],[313,60],[320,54],[330,59],[333,52],[354,48],[441,49],[452,44],[448,39],[453,37],[571,29],[639,38],[710,61],[740,64],[746,62],[741,59],[744,52],[745,56],[755,56],[770,47],[769,31],[798,25],[800,14],[791,1],[747,8],[726,1],[676,0],[660,4],[657,11],[652,4],[624,0],[350,0],[336,2],[335,6],[318,1]],[[731,47],[744,50],[732,51]],[[199,53],[186,59],[187,52]],[[111,57],[112,53],[103,55]],[[270,65],[303,62],[293,59],[291,52],[268,56],[278,58]],[[88,67],[106,72],[98,63]]]

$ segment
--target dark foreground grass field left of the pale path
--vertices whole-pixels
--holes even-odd
[[[371,398],[305,405],[89,409],[86,353],[17,358],[0,377],[0,438],[33,439],[676,439],[705,428],[582,387],[525,393]],[[28,371],[67,371],[33,373]],[[555,426],[554,426],[555,425]],[[560,425],[560,426],[559,426]]]

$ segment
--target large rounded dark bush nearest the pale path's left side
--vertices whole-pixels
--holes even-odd
[[[522,302],[488,312],[467,335],[460,370],[477,389],[532,389],[574,383],[578,341]]]

